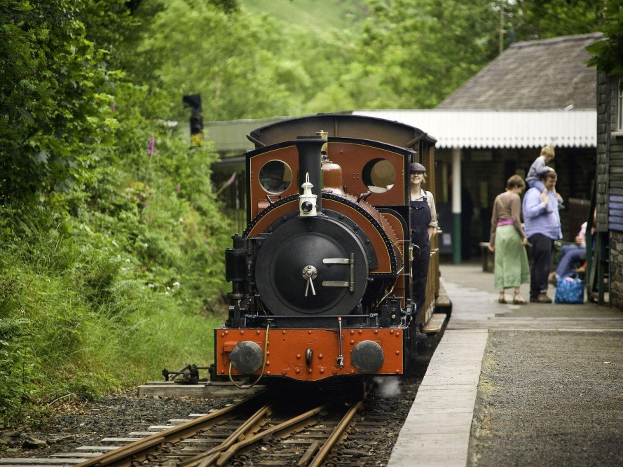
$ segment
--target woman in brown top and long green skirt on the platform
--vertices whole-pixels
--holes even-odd
[[[489,250],[495,252],[495,288],[500,290],[500,303],[506,303],[504,290],[515,288],[513,303],[526,303],[519,293],[521,284],[530,283],[530,268],[525,246],[528,238],[521,227],[520,193],[526,187],[518,175],[506,182],[506,191],[493,202]]]

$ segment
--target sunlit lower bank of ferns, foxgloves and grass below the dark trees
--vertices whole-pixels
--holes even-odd
[[[201,163],[172,146],[156,149],[149,188],[128,189],[118,171],[106,199],[83,200],[77,216],[2,209],[0,425],[44,416],[52,390],[94,397],[163,366],[211,361],[227,223],[209,184],[196,204],[175,185],[209,152],[193,154]]]

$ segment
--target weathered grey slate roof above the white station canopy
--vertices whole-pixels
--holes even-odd
[[[438,109],[530,110],[596,108],[596,68],[586,46],[601,32],[511,44]]]

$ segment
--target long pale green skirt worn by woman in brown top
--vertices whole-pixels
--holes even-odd
[[[526,248],[515,225],[499,225],[495,230],[495,288],[518,287],[530,283]]]

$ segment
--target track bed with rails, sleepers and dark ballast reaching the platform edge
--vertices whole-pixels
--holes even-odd
[[[277,400],[259,393],[219,410],[173,418],[149,427],[151,431],[103,438],[91,443],[98,445],[71,452],[0,458],[0,467],[383,465],[433,351],[434,345],[423,354],[416,375],[386,380],[394,387],[392,394],[388,385],[374,385],[359,403],[336,402],[338,398],[326,394],[317,395],[320,399],[313,403],[313,395],[292,390]]]

